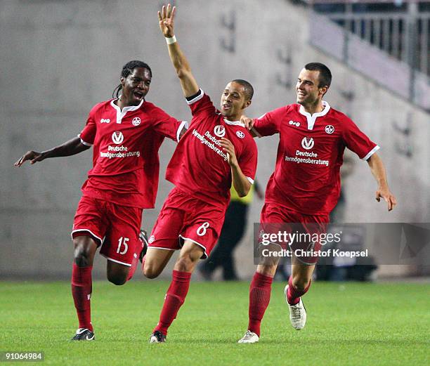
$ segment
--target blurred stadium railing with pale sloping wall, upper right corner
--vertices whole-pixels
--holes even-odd
[[[374,4],[383,1],[360,2]],[[339,4],[339,1],[324,2],[327,3]],[[344,1],[343,5],[351,4],[351,1]],[[408,11],[401,13],[334,12],[320,15],[311,12],[310,42],[366,77],[430,111],[430,13],[418,13],[416,1],[405,5]]]

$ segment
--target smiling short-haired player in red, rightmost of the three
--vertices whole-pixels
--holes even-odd
[[[297,104],[286,105],[260,118],[242,117],[259,136],[279,133],[280,143],[275,171],[268,181],[261,211],[264,223],[301,223],[324,227],[340,192],[339,169],[345,148],[367,161],[376,178],[376,200],[386,201],[389,211],[396,198],[389,190],[379,146],[373,143],[351,119],[323,101],[332,74],[321,63],[308,63],[297,79]],[[274,243],[279,244],[279,243]],[[315,243],[314,251],[320,249]],[[294,254],[294,251],[293,251]],[[318,256],[292,257],[292,275],[285,287],[289,318],[295,329],[306,323],[301,296],[311,286]],[[257,266],[249,289],[249,325],[239,343],[259,341],[260,325],[271,296],[271,283],[278,261]]]

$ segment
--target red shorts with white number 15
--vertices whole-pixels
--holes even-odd
[[[131,266],[137,249],[141,248],[138,235],[142,211],[83,196],[74,214],[72,237],[92,237],[101,245],[100,254],[108,260]]]

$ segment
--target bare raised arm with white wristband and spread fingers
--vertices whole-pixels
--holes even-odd
[[[164,37],[166,37],[170,60],[175,67],[179,80],[181,81],[183,95],[186,98],[194,96],[199,91],[199,86],[191,72],[188,60],[185,58],[185,55],[182,53],[181,48],[176,41],[174,34],[175,13],[176,6],[173,8],[170,4],[163,6],[162,11],[158,12],[159,29],[162,31]]]

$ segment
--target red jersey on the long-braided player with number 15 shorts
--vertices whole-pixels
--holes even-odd
[[[123,206],[154,207],[159,147],[165,136],[178,138],[181,128],[181,122],[144,100],[122,111],[114,100],[95,105],[79,134],[82,143],[94,145],[84,195]]]

